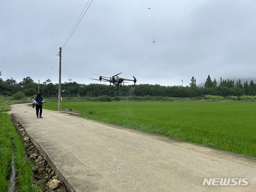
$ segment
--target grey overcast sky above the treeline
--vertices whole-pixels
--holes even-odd
[[[0,1],[1,78],[58,83],[59,47],[86,3]],[[98,83],[91,73],[121,72],[138,84],[169,86],[189,85],[192,76],[197,83],[208,75],[255,79],[256,1],[93,0],[62,58],[62,82]]]

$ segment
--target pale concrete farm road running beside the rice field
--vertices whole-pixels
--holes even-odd
[[[43,109],[12,113],[69,191],[256,191],[256,159]],[[213,184],[203,180],[215,178]],[[238,178],[220,186],[220,178]],[[246,178],[246,182],[239,178]]]

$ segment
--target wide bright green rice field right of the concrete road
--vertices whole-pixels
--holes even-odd
[[[43,108],[56,110],[57,102]],[[79,116],[256,157],[256,102],[62,102]]]

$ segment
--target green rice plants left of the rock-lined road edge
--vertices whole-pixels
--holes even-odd
[[[7,174],[10,172],[13,158],[17,173],[16,181],[19,184],[18,191],[41,191],[39,185],[33,184],[33,162],[25,159],[25,148],[7,113],[0,113],[0,132],[0,189],[8,191],[10,188]]]

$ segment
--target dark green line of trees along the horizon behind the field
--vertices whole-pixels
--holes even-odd
[[[1,72],[0,72],[1,76]],[[206,79],[203,87],[196,85],[196,79],[192,77],[189,86],[161,86],[150,84],[139,84],[132,87],[126,85],[125,89],[109,89],[109,85],[105,84],[79,84],[77,82],[64,82],[61,85],[62,96],[162,96],[162,97],[203,97],[205,95],[218,95],[223,97],[255,95],[256,84],[253,80],[242,83],[240,80],[220,78],[220,84],[211,80],[210,76]],[[58,96],[58,84],[53,84],[50,79],[39,85],[39,91],[43,96]],[[2,80],[0,78],[0,95],[11,96],[17,92],[22,92],[26,96],[36,95],[38,92],[38,84],[30,77],[23,78],[23,81],[16,82],[14,79]]]

